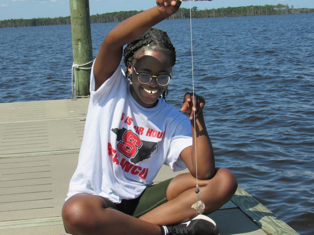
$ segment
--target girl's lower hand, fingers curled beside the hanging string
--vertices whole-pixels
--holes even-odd
[[[183,99],[183,104],[181,107],[182,112],[187,112],[190,114],[190,120],[193,120],[194,113],[195,118],[203,113],[203,108],[205,106],[205,100],[196,95],[195,93],[186,93]]]

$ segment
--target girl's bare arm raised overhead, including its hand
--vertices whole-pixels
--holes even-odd
[[[156,3],[157,6],[126,19],[106,35],[94,64],[95,90],[111,77],[120,64],[125,44],[176,13],[181,5],[181,1],[169,0],[156,0]]]

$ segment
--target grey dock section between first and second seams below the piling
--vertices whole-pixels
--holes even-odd
[[[85,121],[66,119],[19,124],[0,124],[0,155],[79,149]]]

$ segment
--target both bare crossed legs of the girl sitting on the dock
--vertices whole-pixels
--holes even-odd
[[[233,196],[237,182],[224,168],[216,169],[210,180],[198,180],[204,214],[216,211]],[[185,222],[196,215],[191,205],[196,202],[196,179],[185,173],[173,178],[167,188],[167,202],[139,218],[108,208],[100,197],[79,193],[69,198],[62,209],[67,231],[73,235],[156,234],[161,225]]]

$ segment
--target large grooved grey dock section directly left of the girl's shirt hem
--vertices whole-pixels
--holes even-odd
[[[61,215],[76,154],[0,158],[0,220]],[[15,167],[12,167],[12,166]]]

